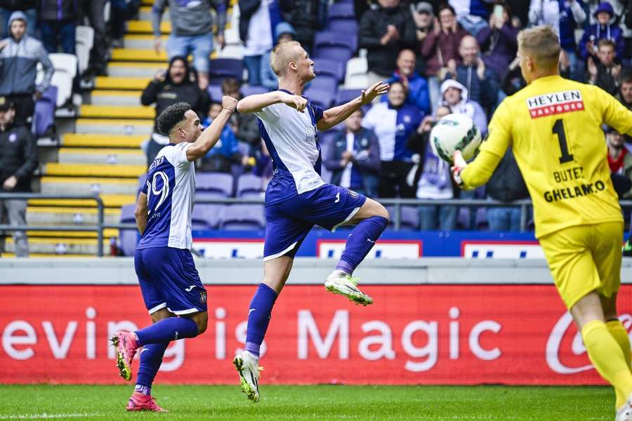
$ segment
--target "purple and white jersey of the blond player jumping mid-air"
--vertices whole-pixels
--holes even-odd
[[[320,178],[321,156],[316,134],[316,123],[322,113],[323,109],[309,100],[305,112],[279,103],[256,113],[259,133],[274,168],[265,203],[286,200],[325,184]]]

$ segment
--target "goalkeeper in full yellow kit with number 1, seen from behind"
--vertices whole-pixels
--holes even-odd
[[[454,154],[454,180],[485,184],[508,147],[522,172],[536,237],[588,356],[617,394],[617,420],[632,420],[630,342],[617,319],[623,218],[610,181],[601,125],[632,135],[632,112],[596,86],[558,74],[560,44],[550,27],[518,35],[528,83],[501,102],[489,137],[469,165]]]

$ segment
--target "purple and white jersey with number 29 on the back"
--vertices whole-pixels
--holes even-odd
[[[147,227],[136,249],[190,249],[195,202],[195,166],[187,159],[188,142],[169,143],[158,152],[141,190],[147,194]]]

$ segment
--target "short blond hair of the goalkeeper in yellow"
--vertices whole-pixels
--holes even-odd
[[[518,34],[518,50],[529,55],[544,69],[555,69],[560,61],[560,39],[553,28],[541,25]]]

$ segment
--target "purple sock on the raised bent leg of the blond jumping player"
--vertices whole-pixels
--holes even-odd
[[[387,226],[388,220],[383,216],[371,216],[360,221],[349,235],[336,269],[353,274]]]

